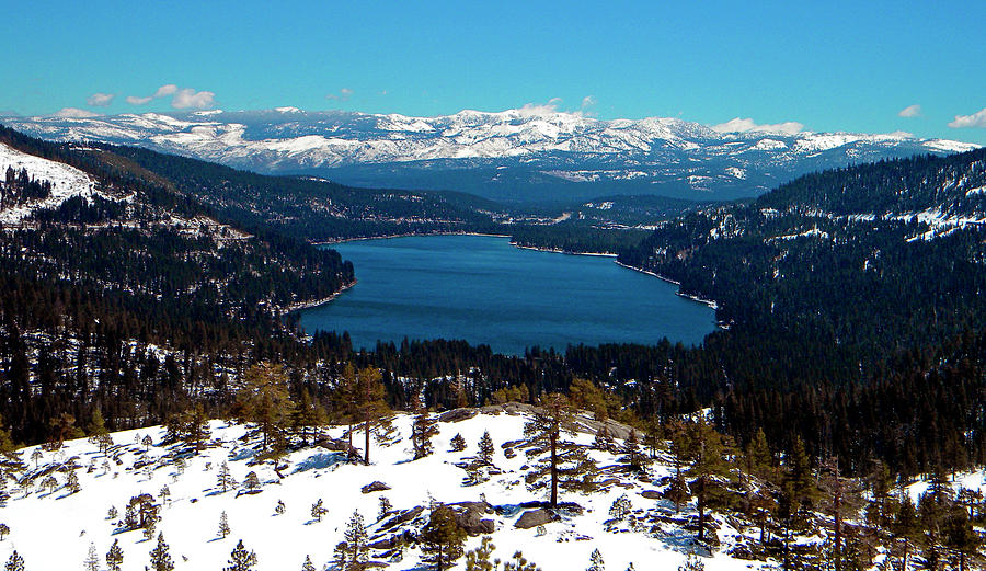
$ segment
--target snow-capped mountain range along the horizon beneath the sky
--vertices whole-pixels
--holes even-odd
[[[513,201],[753,196],[819,169],[976,148],[906,134],[722,133],[678,118],[603,121],[531,106],[437,117],[278,107],[2,121],[43,138],[137,145],[264,173]]]

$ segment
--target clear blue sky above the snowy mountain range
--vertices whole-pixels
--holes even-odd
[[[986,145],[982,1],[0,8],[0,111],[22,115],[285,105],[440,115],[550,102],[600,118],[738,117]]]

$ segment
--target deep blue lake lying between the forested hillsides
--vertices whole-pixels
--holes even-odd
[[[465,339],[494,351],[569,344],[698,344],[714,311],[612,258],[521,250],[506,238],[426,236],[333,244],[358,283],[301,311],[301,327],[378,340]]]

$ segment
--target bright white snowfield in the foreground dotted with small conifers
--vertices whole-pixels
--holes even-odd
[[[658,506],[663,513],[668,513],[669,504],[665,501],[649,500],[640,493],[653,490],[654,479],[670,473],[665,462],[653,465],[647,478],[605,473],[603,479],[618,480],[593,495],[562,493],[560,502],[577,502],[585,512],[548,523],[543,535],[536,528],[515,528],[514,523],[524,513],[516,504],[547,499],[543,489],[531,491],[524,483],[526,470],[521,470],[521,466],[532,464],[532,458],[519,448],[516,456],[506,458],[501,446],[521,438],[524,423],[525,416],[507,413],[482,413],[460,422],[440,423],[440,434],[433,441],[435,454],[412,461],[408,439],[411,416],[398,414],[394,426],[400,432],[400,441],[389,446],[375,443],[370,466],[346,464],[337,453],[311,447],[287,456],[284,464],[288,467],[280,470],[283,479],[270,462],[252,465],[259,441],[244,442],[245,426],[227,425],[222,421],[210,423],[209,447],[187,457],[183,471],[173,462],[180,447],[161,445],[164,434],[161,427],[113,434],[115,445],[108,450],[108,471],[103,467],[106,456],[85,439],[68,442],[59,452],[44,452],[37,462],[32,458],[35,448],[28,447],[22,450],[28,471],[20,483],[8,483],[5,491],[10,498],[0,509],[0,522],[11,529],[0,541],[0,562],[15,549],[23,556],[28,571],[80,569],[92,543],[100,553],[100,569],[105,569],[105,553],[113,540],[118,539],[125,555],[123,569],[142,569],[148,564],[148,553],[156,540],[146,540],[140,530],[115,533],[115,523],[123,517],[128,501],[141,493],[151,494],[157,503],[162,503],[162,518],[157,530],[164,534],[176,570],[222,569],[239,539],[248,549],[255,550],[257,571],[300,569],[306,556],[311,557],[316,569],[331,569],[333,549],[343,540],[346,522],[354,511],[358,510],[364,516],[370,541],[375,540],[381,526],[377,517],[381,495],[390,500],[394,511],[425,506],[424,517],[431,498],[452,503],[480,501],[484,496],[494,506],[505,506],[500,513],[483,515],[495,524],[495,556],[508,559],[515,551],[523,550],[528,560],[544,571],[585,569],[596,548],[607,569],[618,571],[627,569],[631,562],[642,571],[674,570],[684,562],[690,532],[663,526],[662,533],[652,536],[647,532],[650,525],[638,530],[631,530],[627,524],[607,530],[604,525],[610,518],[608,512],[614,500],[624,493],[634,513],[641,517]],[[477,443],[485,430],[490,431],[496,448],[494,464],[503,473],[478,486],[466,487],[462,484],[466,472],[455,462],[477,454]],[[329,432],[342,437],[344,427]],[[457,433],[466,439],[467,448],[461,453],[448,452],[449,441]],[[153,444],[145,452],[138,441],[147,435]],[[577,439],[588,444],[593,436],[581,434]],[[357,433],[354,442],[362,446],[363,435]],[[592,454],[600,468],[615,462],[615,457],[608,453]],[[238,482],[243,482],[251,470],[256,471],[262,491],[243,493],[245,490],[240,483],[221,492],[217,472],[223,461],[229,462]],[[91,465],[94,468],[89,471]],[[139,467],[141,465],[146,466]],[[70,469],[74,469],[81,484],[81,491],[73,494],[64,487]],[[38,487],[48,473],[58,481],[54,492],[41,491]],[[25,487],[23,482],[31,478],[34,484]],[[392,489],[368,494],[360,492],[362,487],[374,481],[385,482]],[[169,501],[162,501],[160,495],[164,486],[170,489]],[[316,522],[311,506],[319,499],[324,500],[329,512],[321,522]],[[278,500],[284,502],[286,510],[284,514],[275,515]],[[111,506],[119,513],[115,519],[107,518]],[[219,518],[223,511],[228,514],[231,533],[220,538]],[[693,506],[683,511],[693,512]],[[713,557],[704,559],[706,569],[738,571],[766,567],[724,555],[723,551],[735,541],[737,532],[718,516],[716,521],[723,545]],[[413,529],[416,532],[420,527]],[[747,534],[755,537],[756,529],[748,529]],[[467,549],[477,547],[480,539],[479,536],[470,537]],[[386,563],[387,569],[422,569],[421,551],[416,547],[406,549],[400,561],[381,559],[379,553],[371,551],[370,559]],[[465,559],[459,559],[456,569],[463,568]]]

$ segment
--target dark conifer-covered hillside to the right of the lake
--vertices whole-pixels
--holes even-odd
[[[984,158],[813,174],[668,222],[620,261],[719,302],[729,330],[698,352],[721,367],[700,400],[723,430],[905,472],[982,462]]]

